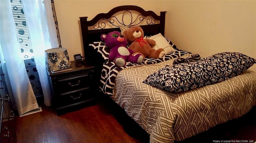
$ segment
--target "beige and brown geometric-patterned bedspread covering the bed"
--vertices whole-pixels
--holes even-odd
[[[238,118],[256,105],[256,73],[250,70],[186,92],[167,92],[142,83],[173,61],[126,67],[116,76],[112,99],[150,135],[150,143],[182,141]]]

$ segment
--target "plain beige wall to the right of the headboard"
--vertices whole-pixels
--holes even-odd
[[[256,58],[256,1],[170,1],[166,36],[201,56],[233,51]],[[256,64],[251,68],[256,71]]]

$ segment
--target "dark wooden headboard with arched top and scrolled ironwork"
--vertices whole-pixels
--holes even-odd
[[[96,74],[100,74],[102,65],[105,61],[96,50],[88,46],[90,43],[101,41],[100,35],[102,33],[107,34],[111,31],[120,31],[119,25],[139,25],[142,27],[144,35],[148,36],[158,33],[164,35],[165,14],[166,12],[160,12],[159,16],[155,12],[145,11],[138,6],[118,6],[108,13],[100,13],[96,15],[89,21],[87,20],[88,17],[80,17],[86,61],[89,61],[96,67]],[[97,77],[100,78],[100,75]]]

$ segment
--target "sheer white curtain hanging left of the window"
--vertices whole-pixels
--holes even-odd
[[[38,104],[30,84],[15,28],[10,0],[0,0],[0,44],[1,64],[8,72],[8,90],[12,90],[15,107],[20,115],[37,109]],[[5,65],[4,65],[5,63]],[[7,71],[6,71],[7,70]],[[9,93],[10,94],[10,93]]]

